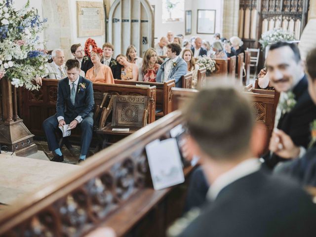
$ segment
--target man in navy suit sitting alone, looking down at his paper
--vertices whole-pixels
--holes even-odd
[[[55,155],[51,161],[62,162],[64,156],[59,148],[55,129],[69,124],[70,129],[79,125],[82,130],[79,162],[85,160],[93,132],[93,88],[92,82],[81,76],[80,63],[77,59],[66,62],[67,78],[58,82],[57,113],[43,122],[48,148]]]

